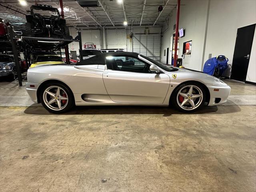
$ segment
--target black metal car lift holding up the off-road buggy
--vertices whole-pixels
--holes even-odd
[[[14,32],[13,26],[7,26],[7,30],[9,33],[9,40],[4,41],[7,43],[8,46],[12,46],[12,52],[14,55],[15,65],[16,65],[16,72],[18,73],[18,82],[19,86],[22,86],[22,75],[20,70],[20,64],[18,60],[18,50],[19,52],[24,52],[24,58],[26,60],[26,64],[30,63],[30,54],[35,49],[40,50],[59,50],[63,47],[67,47],[68,44],[71,42],[79,42],[80,48],[80,60],[82,60],[82,40],[81,40],[81,32],[80,30],[77,31],[78,35],[74,39],[63,39],[63,38],[41,38],[41,37],[26,37],[26,36],[19,36]],[[19,47],[19,42],[22,42],[22,46]],[[2,44],[2,42],[1,42]]]

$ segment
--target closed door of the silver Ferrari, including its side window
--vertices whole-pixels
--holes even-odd
[[[130,56],[109,56],[106,64],[103,81],[114,102],[164,102],[170,85],[167,74],[150,72],[149,63]]]

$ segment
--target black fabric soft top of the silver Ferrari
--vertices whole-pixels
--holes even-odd
[[[110,52],[110,53],[102,53],[86,60],[82,60],[78,62],[76,65],[105,65],[105,58],[107,56],[131,56],[138,57],[138,53],[134,52]]]

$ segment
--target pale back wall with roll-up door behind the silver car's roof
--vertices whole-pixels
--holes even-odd
[[[153,30],[154,29],[154,30]],[[160,28],[150,29],[154,34],[138,34],[143,33],[144,28],[134,28],[132,41],[127,39],[126,29],[106,29],[106,48],[121,48],[125,51],[132,51],[148,56],[154,60],[160,61],[161,34]],[[70,33],[75,37],[76,29],[71,28]],[[128,31],[128,34],[130,31]],[[136,34],[137,33],[137,34]],[[97,49],[101,49],[102,40],[100,30],[81,30],[82,44],[85,42],[93,42]],[[69,44],[71,50],[79,53],[78,42]]]

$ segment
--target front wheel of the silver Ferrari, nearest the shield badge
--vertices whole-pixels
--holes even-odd
[[[190,90],[191,86],[192,94]],[[206,90],[200,83],[186,82],[180,84],[174,90],[171,98],[171,104],[181,112],[190,113],[200,109],[204,105],[205,100]],[[192,106],[193,104],[194,106]]]

